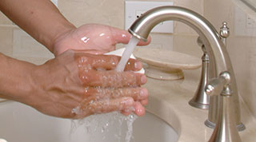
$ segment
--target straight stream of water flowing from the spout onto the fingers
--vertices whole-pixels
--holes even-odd
[[[116,70],[118,72],[122,72],[125,67],[126,67],[126,63],[130,58],[130,55],[133,53],[134,48],[136,47],[136,45],[138,44],[139,39],[137,37],[131,37],[130,41],[128,43],[128,45],[126,45],[126,49],[125,51],[122,53],[122,58],[118,63],[118,66],[116,68]]]

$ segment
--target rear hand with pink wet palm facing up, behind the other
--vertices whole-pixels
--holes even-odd
[[[89,24],[68,30],[54,40],[55,56],[67,49],[86,50],[87,53],[107,53],[115,49],[118,43],[127,44],[131,35],[126,30],[110,26]],[[138,45],[147,45],[140,41]]]

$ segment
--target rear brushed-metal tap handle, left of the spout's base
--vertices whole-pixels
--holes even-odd
[[[202,47],[202,71],[201,79],[198,85],[198,89],[194,94],[194,97],[189,101],[189,104],[195,108],[208,109],[210,103],[210,97],[206,94],[205,88],[209,80],[209,56],[206,53],[206,47],[202,44],[202,40],[198,37],[198,45]]]

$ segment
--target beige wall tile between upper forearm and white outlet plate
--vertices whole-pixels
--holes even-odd
[[[122,29],[124,27],[124,1],[62,0],[58,2],[58,7],[75,26],[99,23]]]

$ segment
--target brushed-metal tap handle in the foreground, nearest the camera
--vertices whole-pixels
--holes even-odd
[[[218,122],[208,142],[241,142],[233,119],[234,108],[231,105],[233,92],[230,86],[230,73],[222,72],[206,85],[206,94],[214,96],[220,94]]]

